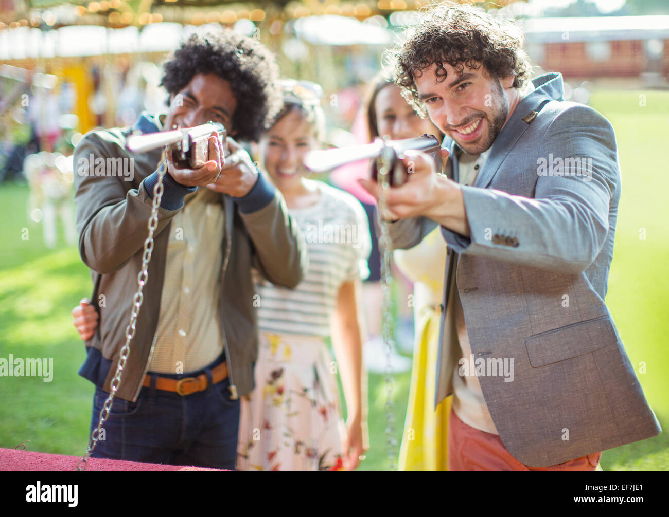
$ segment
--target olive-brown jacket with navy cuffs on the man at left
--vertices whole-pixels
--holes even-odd
[[[159,127],[155,118],[142,114],[135,130],[155,132]],[[87,357],[79,373],[105,391],[111,389],[120,349],[126,341],[161,160],[160,151],[134,154],[126,150],[126,137],[131,130],[89,132],[74,152],[79,250],[91,271],[91,303],[100,315],[96,332],[86,342]],[[116,394],[132,401],[139,394],[156,345],[163,283],[170,281],[165,279],[165,260],[171,219],[183,208],[185,196],[195,191],[177,184],[169,174],[165,174],[164,186],[143,303]],[[258,269],[272,283],[291,288],[300,283],[308,258],[304,238],[282,195],[262,174],[246,196],[221,194],[221,204],[226,226],[221,239],[223,268],[218,309],[234,398],[253,389],[253,367],[258,357],[251,268]]]

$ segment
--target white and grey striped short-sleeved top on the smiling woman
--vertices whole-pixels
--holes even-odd
[[[330,335],[330,316],[342,283],[369,275],[369,220],[360,202],[348,192],[321,181],[320,198],[312,206],[292,208],[309,256],[309,268],[295,289],[277,287],[254,270],[258,327],[262,331]]]

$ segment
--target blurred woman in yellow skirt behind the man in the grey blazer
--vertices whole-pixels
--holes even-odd
[[[409,106],[388,71],[379,73],[372,84],[367,100],[367,123],[372,138],[388,136],[398,140],[430,134],[442,140],[444,136],[429,118],[421,118]],[[417,246],[395,250],[393,258],[397,269],[413,282],[413,304],[409,306],[413,307],[415,335],[398,468],[448,470],[446,429],[452,397],[446,397],[434,407],[446,242],[435,228]]]

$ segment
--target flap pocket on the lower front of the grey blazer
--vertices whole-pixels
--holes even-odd
[[[608,315],[565,325],[525,339],[530,364],[541,366],[615,345],[617,337]]]

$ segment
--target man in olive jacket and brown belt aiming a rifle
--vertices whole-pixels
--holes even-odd
[[[159,168],[165,168],[155,245],[130,355],[93,456],[234,468],[239,397],[253,388],[258,353],[251,267],[295,287],[306,269],[303,238],[278,190],[233,138],[257,140],[282,106],[274,56],[256,39],[192,35],[165,64],[167,114],[134,128],[92,131],[76,148],[80,254],[91,270],[96,328],[79,329],[80,375],[96,385],[91,431],[126,341]],[[170,152],[134,154],[131,132],[221,122],[237,160],[215,136],[209,161],[179,168]],[[133,174],[98,170],[129,160]],[[102,161],[100,161],[102,160]],[[101,172],[101,174],[98,174]],[[87,335],[86,335],[87,334]]]

